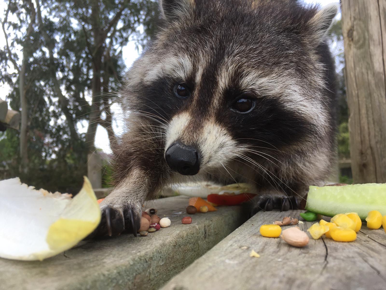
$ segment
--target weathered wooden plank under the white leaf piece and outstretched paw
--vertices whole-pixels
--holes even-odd
[[[183,225],[187,197],[148,205],[160,217],[170,217],[171,226],[146,237],[122,234],[81,242],[42,262],[0,258],[0,289],[157,289],[247,220],[242,206],[232,206],[196,213],[190,225]]]

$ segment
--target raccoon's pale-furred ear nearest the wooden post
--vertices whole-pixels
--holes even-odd
[[[337,3],[329,4],[320,9],[308,22],[313,37],[316,38],[318,43],[324,40],[338,10],[339,5]]]

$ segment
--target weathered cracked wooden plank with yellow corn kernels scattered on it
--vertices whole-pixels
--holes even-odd
[[[303,248],[259,234],[262,224],[298,213],[257,213],[161,289],[386,289],[383,229],[368,230],[363,224],[354,242],[310,238]],[[313,223],[299,227],[306,230]],[[260,258],[249,257],[252,249]]]

